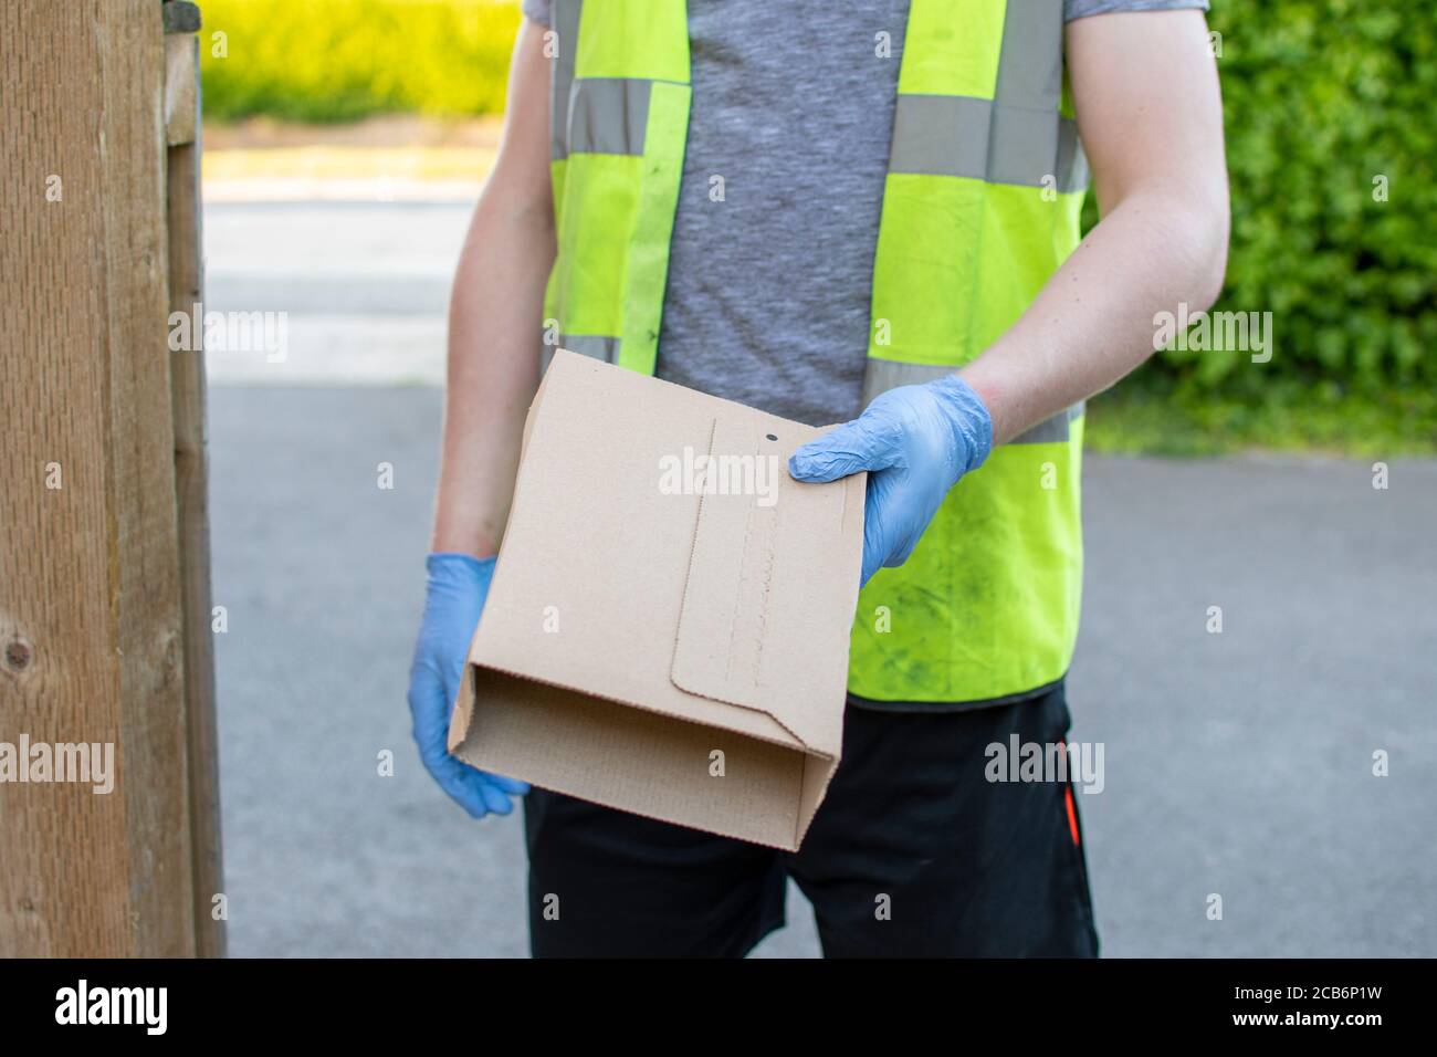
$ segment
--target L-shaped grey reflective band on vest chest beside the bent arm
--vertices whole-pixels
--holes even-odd
[[[1062,4],[1007,4],[993,99],[898,96],[890,173],[953,175],[1059,193],[1088,186],[1078,125],[1062,102]]]

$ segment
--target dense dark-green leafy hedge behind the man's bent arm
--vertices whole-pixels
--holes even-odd
[[[1216,309],[1270,311],[1273,357],[1164,352],[1134,383],[1194,403],[1358,397],[1431,440],[1437,19],[1427,4],[1214,0],[1209,22],[1233,193]]]

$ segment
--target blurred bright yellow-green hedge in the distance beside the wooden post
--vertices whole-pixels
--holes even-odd
[[[519,27],[512,0],[201,0],[200,9],[210,118],[504,109]]]

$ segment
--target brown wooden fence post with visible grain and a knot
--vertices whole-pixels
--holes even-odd
[[[198,229],[167,226],[161,4],[6,3],[0,78],[0,955],[217,952],[214,772],[191,751],[213,754],[213,696],[208,732],[187,708],[213,679],[191,653],[208,569],[181,545],[172,420],[203,374],[172,390],[167,347],[168,256],[190,246],[197,276]]]

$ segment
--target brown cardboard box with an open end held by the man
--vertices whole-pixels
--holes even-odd
[[[560,349],[450,751],[796,850],[842,748],[864,541],[864,475],[787,475],[818,433]]]

